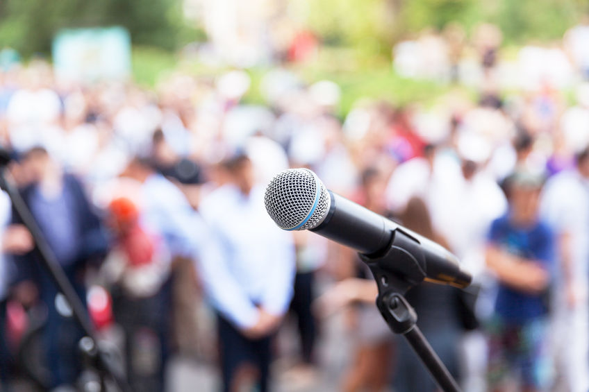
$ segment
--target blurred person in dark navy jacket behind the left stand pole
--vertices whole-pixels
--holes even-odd
[[[107,240],[99,217],[92,210],[81,183],[64,173],[44,148],[24,154],[19,173],[22,198],[33,214],[57,262],[85,304],[84,272],[92,260],[106,254]],[[22,225],[13,211],[11,223]],[[18,227],[18,226],[13,226]],[[13,255],[17,282],[33,282],[39,300],[47,307],[44,354],[50,369],[51,389],[72,386],[81,372],[77,343],[83,330],[69,313],[64,298],[44,268],[35,250]]]

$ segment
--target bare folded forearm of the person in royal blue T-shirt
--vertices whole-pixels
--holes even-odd
[[[538,294],[548,286],[549,273],[540,262],[516,257],[494,244],[487,247],[486,263],[501,282],[513,289]]]

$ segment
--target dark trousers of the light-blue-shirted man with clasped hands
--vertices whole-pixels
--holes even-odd
[[[220,314],[217,314],[217,332],[223,378],[222,390],[231,391],[238,370],[241,366],[248,365],[258,371],[258,391],[267,392],[273,336],[249,339]]]

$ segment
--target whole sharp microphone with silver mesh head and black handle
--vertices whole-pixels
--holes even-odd
[[[410,255],[413,265],[388,269],[401,271],[415,284],[427,280],[462,289],[472,281],[448,250],[333,193],[309,169],[288,169],[274,176],[264,201],[269,216],[283,230],[311,230],[357,250],[368,260],[383,257],[391,248]],[[402,262],[404,257],[398,259]]]

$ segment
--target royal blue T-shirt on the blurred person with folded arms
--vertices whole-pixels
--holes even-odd
[[[538,221],[521,228],[513,225],[509,214],[493,221],[488,239],[506,253],[530,259],[551,271],[554,260],[554,235],[548,225]],[[547,313],[545,293],[531,294],[499,284],[495,312],[508,321],[522,322]]]

